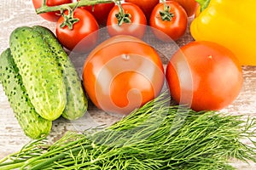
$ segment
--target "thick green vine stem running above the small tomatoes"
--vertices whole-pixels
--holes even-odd
[[[54,12],[54,11],[60,11],[61,8],[74,8],[74,7],[83,7],[83,6],[90,6],[90,5],[96,5],[96,4],[100,4],[100,3],[113,3],[112,0],[91,0],[91,1],[87,1],[87,0],[81,0],[78,2],[74,2],[74,3],[65,3],[62,5],[56,5],[56,6],[47,6],[46,5],[46,0],[44,0],[42,7],[37,8],[36,9],[36,13],[37,14],[43,14],[43,13],[47,13],[47,12]]]

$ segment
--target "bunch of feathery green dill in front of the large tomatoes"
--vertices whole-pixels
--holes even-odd
[[[166,93],[96,133],[38,139],[0,161],[1,169],[234,169],[256,162],[256,120],[170,105]],[[247,139],[252,144],[244,144]]]

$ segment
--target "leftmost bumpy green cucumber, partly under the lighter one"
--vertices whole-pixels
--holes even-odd
[[[39,116],[26,94],[19,70],[7,48],[0,56],[0,81],[23,132],[31,139],[47,136],[52,122]]]

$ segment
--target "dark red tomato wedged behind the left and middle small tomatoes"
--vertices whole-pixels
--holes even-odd
[[[108,14],[110,10],[113,8],[114,3],[100,3],[91,6],[81,7],[88,11],[96,18],[97,22],[101,26],[106,26]]]

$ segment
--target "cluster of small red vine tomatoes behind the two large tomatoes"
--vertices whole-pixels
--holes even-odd
[[[42,0],[33,0],[32,2],[35,8],[40,8],[43,3]],[[47,6],[64,3],[73,3],[73,0],[48,0],[46,2]],[[120,9],[120,6],[122,9]],[[90,44],[85,41],[82,44],[81,41],[101,26],[108,26],[108,33],[112,37],[125,34],[142,38],[146,26],[149,25],[155,28],[153,32],[160,40],[167,42],[172,39],[175,41],[185,33],[188,16],[195,14],[197,3],[195,0],[166,1],[166,4],[160,3],[159,0],[125,0],[120,6],[115,3],[100,3],[75,8],[72,12],[65,11],[64,15],[68,16],[69,13],[73,13],[73,18],[79,20],[79,22],[73,24],[72,29],[69,26],[63,26],[66,18],[63,14],[49,12],[40,15],[45,20],[57,23],[56,36],[65,48],[86,52],[92,46],[90,44],[93,41]],[[160,12],[163,14],[162,16]],[[117,19],[117,14],[119,14],[119,19]],[[131,23],[133,26],[127,26],[125,23]],[[90,39],[93,40],[96,37]],[[80,48],[78,44],[81,44]]]

